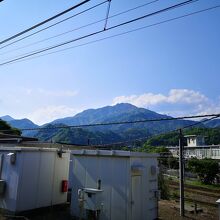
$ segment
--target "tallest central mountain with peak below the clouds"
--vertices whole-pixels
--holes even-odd
[[[109,123],[109,122],[121,122],[121,121],[137,121],[146,119],[161,119],[171,118],[167,115],[161,115],[156,112],[138,108],[134,105],[122,103],[115,106],[107,106],[99,109],[89,109],[75,115],[74,117],[68,117],[58,119],[51,124],[62,123],[66,125],[82,125],[82,124],[94,124],[94,123]],[[192,124],[192,121],[179,120],[179,121],[163,121],[163,122],[148,122],[148,123],[136,123],[136,124],[122,124],[122,125],[109,125],[92,127],[88,130],[92,131],[113,131],[121,132],[127,129],[144,129],[150,131],[150,133],[158,133],[167,130],[172,130],[182,126]]]

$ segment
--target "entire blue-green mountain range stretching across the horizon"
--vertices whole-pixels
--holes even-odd
[[[74,144],[109,144],[120,141],[129,141],[142,137],[150,137],[154,134],[167,132],[195,123],[191,120],[173,120],[134,124],[117,124],[108,126],[94,126],[81,128],[56,127],[76,126],[85,124],[137,121],[146,119],[171,118],[167,115],[158,114],[145,108],[121,103],[115,106],[106,106],[98,109],[88,109],[73,117],[54,120],[42,126],[34,124],[29,119],[13,119],[10,116],[0,117],[12,127],[18,129],[26,128],[48,128],[43,130],[23,131],[22,135],[34,136],[44,141],[56,141]],[[199,127],[220,127],[220,120],[216,119],[206,124],[201,123]]]

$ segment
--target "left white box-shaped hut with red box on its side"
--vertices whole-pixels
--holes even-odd
[[[56,148],[1,147],[0,208],[17,213],[65,203],[69,158]]]

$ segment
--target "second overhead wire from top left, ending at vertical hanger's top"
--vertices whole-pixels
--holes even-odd
[[[90,1],[90,0],[88,0],[88,1]],[[106,3],[106,2],[108,2],[108,0],[105,0],[104,2],[101,2],[101,3],[97,4],[97,5],[94,5],[94,6],[90,7],[90,8],[88,8],[88,9],[85,9],[85,10],[83,10],[83,11],[77,13],[77,14],[74,14],[74,15],[68,17],[68,18],[65,18],[65,19],[63,19],[63,20],[61,20],[61,21],[58,21],[58,22],[52,24],[52,25],[49,25],[49,26],[47,26],[47,27],[45,27],[45,28],[42,28],[42,29],[40,29],[40,30],[38,30],[38,31],[36,31],[36,32],[34,32],[34,33],[32,33],[32,34],[29,34],[29,35],[27,35],[27,36],[25,36],[25,37],[22,37],[22,38],[20,38],[20,39],[18,39],[18,40],[16,40],[16,41],[13,41],[13,42],[11,42],[11,43],[5,45],[5,46],[0,47],[0,49],[9,47],[9,46],[11,46],[11,45],[13,45],[13,44],[15,44],[15,43],[17,43],[17,42],[20,42],[20,41],[22,41],[22,40],[24,40],[24,39],[26,39],[26,38],[29,38],[29,37],[31,37],[31,36],[33,36],[33,35],[36,35],[36,34],[42,32],[42,31],[45,31],[45,30],[47,30],[47,29],[49,29],[49,28],[52,28],[52,27],[54,27],[54,26],[56,26],[56,25],[58,25],[58,24],[61,24],[61,23],[65,22],[65,21],[67,21],[67,20],[69,20],[69,19],[71,19],[71,18],[74,18],[74,17],[76,17],[76,16],[78,16],[78,15],[81,15],[81,14],[87,12],[87,11],[90,11],[90,10],[92,10],[92,9],[94,9],[94,8],[96,8],[96,7],[98,7],[98,6],[100,6],[100,5],[103,5],[103,4]],[[1,42],[0,42],[0,44],[1,44]]]

